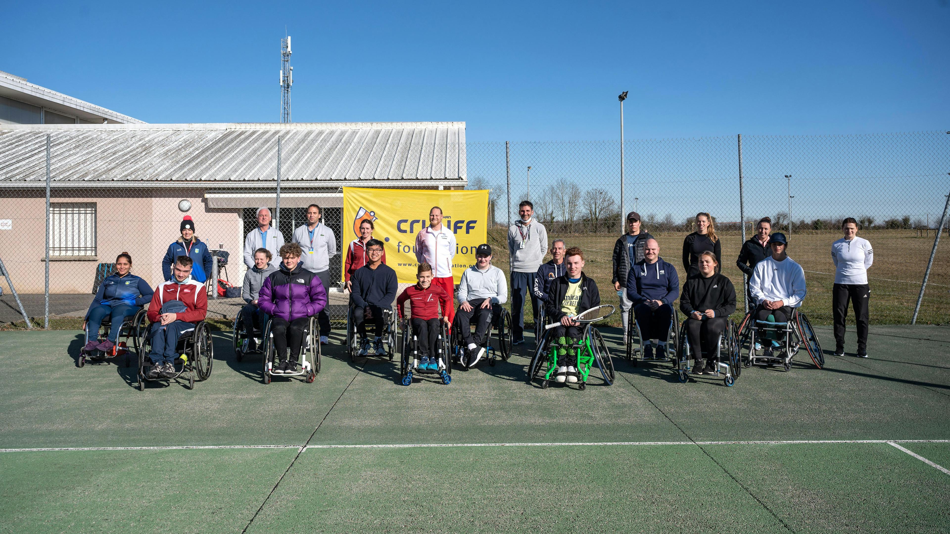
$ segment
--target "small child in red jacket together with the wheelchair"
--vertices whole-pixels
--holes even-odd
[[[440,350],[440,338],[445,340],[444,325],[448,324],[448,310],[452,301],[446,290],[441,286],[432,285],[432,266],[426,262],[419,264],[416,272],[419,282],[409,286],[396,298],[396,311],[400,319],[404,319],[403,333],[408,334],[406,325],[406,301],[410,302],[412,312],[409,318],[411,336],[406,337],[403,343],[403,381],[411,383],[411,372],[443,372],[447,369],[447,353]],[[441,308],[441,314],[440,314]],[[411,356],[411,361],[409,360]],[[443,381],[446,377],[443,376]],[[409,385],[407,383],[406,385]],[[447,382],[446,382],[447,383]]]

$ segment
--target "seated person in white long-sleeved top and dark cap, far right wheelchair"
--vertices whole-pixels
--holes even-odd
[[[785,323],[791,319],[792,309],[805,299],[805,271],[786,252],[785,234],[776,232],[769,237],[771,257],[755,264],[749,281],[749,291],[755,301],[755,319]]]

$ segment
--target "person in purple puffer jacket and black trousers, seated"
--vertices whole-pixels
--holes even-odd
[[[271,332],[280,364],[275,374],[297,372],[297,358],[303,344],[303,329],[310,317],[327,307],[327,290],[320,277],[303,268],[303,251],[296,243],[280,247],[280,269],[264,280],[257,296],[257,306],[271,319]],[[290,345],[290,358],[287,349]]]

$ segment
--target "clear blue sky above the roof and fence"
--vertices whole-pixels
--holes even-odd
[[[0,70],[149,123],[466,121],[469,141],[950,129],[946,0],[10,2]]]

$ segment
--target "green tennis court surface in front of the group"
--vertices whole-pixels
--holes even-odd
[[[404,387],[338,335],[314,384],[264,385],[216,333],[209,380],[143,392],[77,369],[78,332],[3,332],[0,531],[950,531],[950,330],[871,332],[732,388],[617,350],[585,391],[526,384],[530,337]]]

